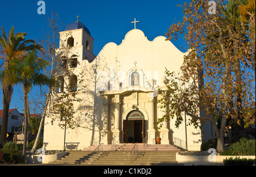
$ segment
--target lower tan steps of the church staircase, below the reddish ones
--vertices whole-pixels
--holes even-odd
[[[180,165],[176,161],[176,151],[137,151],[131,161],[130,151],[105,151],[93,160],[92,151],[68,151],[65,157],[51,162],[63,165]]]

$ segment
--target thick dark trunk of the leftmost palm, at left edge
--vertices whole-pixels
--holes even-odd
[[[3,116],[2,116],[0,145],[5,144],[6,142],[6,136],[7,136],[7,130],[8,130],[9,107],[11,103],[11,95],[13,94],[13,86],[12,85],[3,86],[2,91],[3,91]]]

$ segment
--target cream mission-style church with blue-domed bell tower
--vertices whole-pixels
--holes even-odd
[[[61,57],[61,67],[72,75],[67,77],[60,67],[56,77],[61,84],[55,94],[76,91],[81,102],[71,110],[75,112],[74,129],[61,129],[58,124],[64,120],[60,117],[52,125],[51,116],[56,115],[46,117],[46,150],[63,150],[64,141],[75,144],[77,150],[113,142],[155,144],[156,137],[161,138],[160,144],[200,150],[202,141],[213,136],[210,125],[195,129],[183,123],[176,128],[175,120],[156,129],[155,122],[163,116],[156,102],[161,96],[158,89],[167,90],[164,71],[179,71],[187,53],[180,52],[164,36],[150,41],[139,29],[127,32],[119,45],[106,44],[97,56],[93,54],[93,41],[89,29],[78,20],[60,32],[60,43],[71,49]],[[68,87],[71,81],[76,86]],[[79,90],[81,86],[84,88]]]

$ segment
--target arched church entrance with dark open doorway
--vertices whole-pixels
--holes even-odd
[[[146,136],[145,125],[146,120],[144,120],[143,113],[138,110],[131,111],[126,120],[123,120],[123,142],[143,142]]]

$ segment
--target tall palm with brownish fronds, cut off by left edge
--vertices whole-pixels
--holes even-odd
[[[0,65],[0,69],[3,67],[3,71],[7,70],[10,61],[14,59],[21,60],[30,50],[40,50],[43,52],[43,48],[36,44],[34,40],[25,40],[24,36],[26,35],[27,33],[22,32],[14,34],[14,27],[12,27],[9,35],[6,36],[2,27],[2,36],[0,36],[0,59],[3,59],[4,62]],[[3,116],[0,145],[6,142],[8,112],[14,87],[7,81],[8,77],[9,75],[0,75],[3,91]]]

